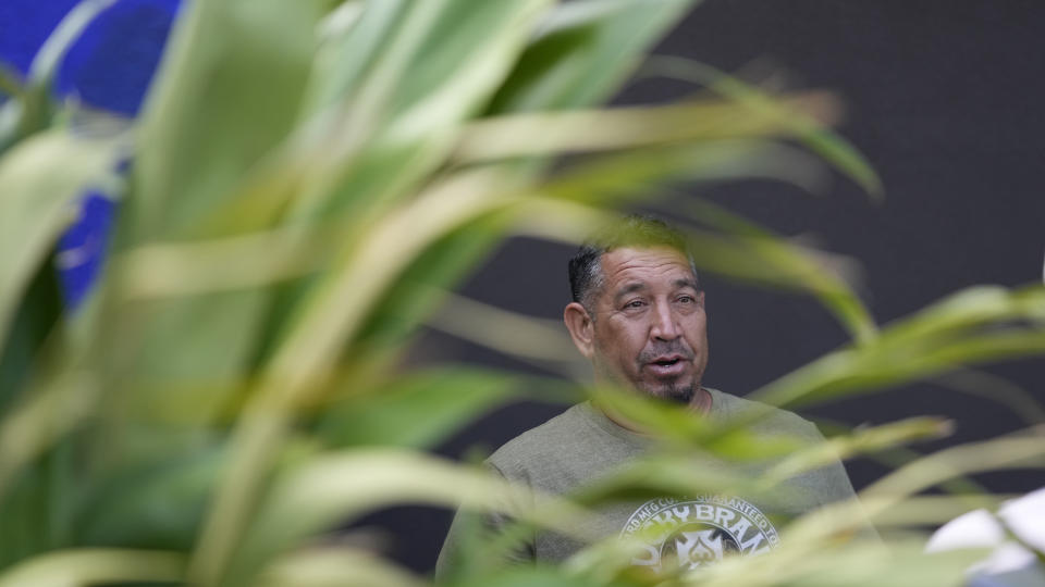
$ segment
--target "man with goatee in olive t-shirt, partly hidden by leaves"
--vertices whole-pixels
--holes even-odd
[[[790,412],[701,386],[708,364],[704,291],[685,239],[666,224],[628,216],[581,246],[569,263],[569,283],[573,301],[563,320],[591,362],[597,384],[677,402],[693,417],[712,422],[750,419],[748,429],[759,437],[823,441],[813,424]],[[654,433],[619,411],[585,402],[507,442],[487,464],[509,480],[568,495],[647,454]],[[693,466],[709,476],[739,470],[753,478],[773,464],[738,466],[710,453],[693,455]],[[644,540],[632,564],[657,571],[696,567],[727,553],[772,549],[779,541],[779,521],[850,498],[853,490],[835,462],[797,475],[769,495],[694,494],[605,507],[582,529]],[[499,526],[504,520],[493,516],[490,522]],[[452,564],[460,532],[455,521],[438,573]],[[557,534],[537,533],[518,558],[556,562],[582,547]]]

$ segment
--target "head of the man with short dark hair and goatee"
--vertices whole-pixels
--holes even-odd
[[[689,403],[708,364],[704,294],[685,238],[627,216],[569,261],[563,320],[598,380]]]

